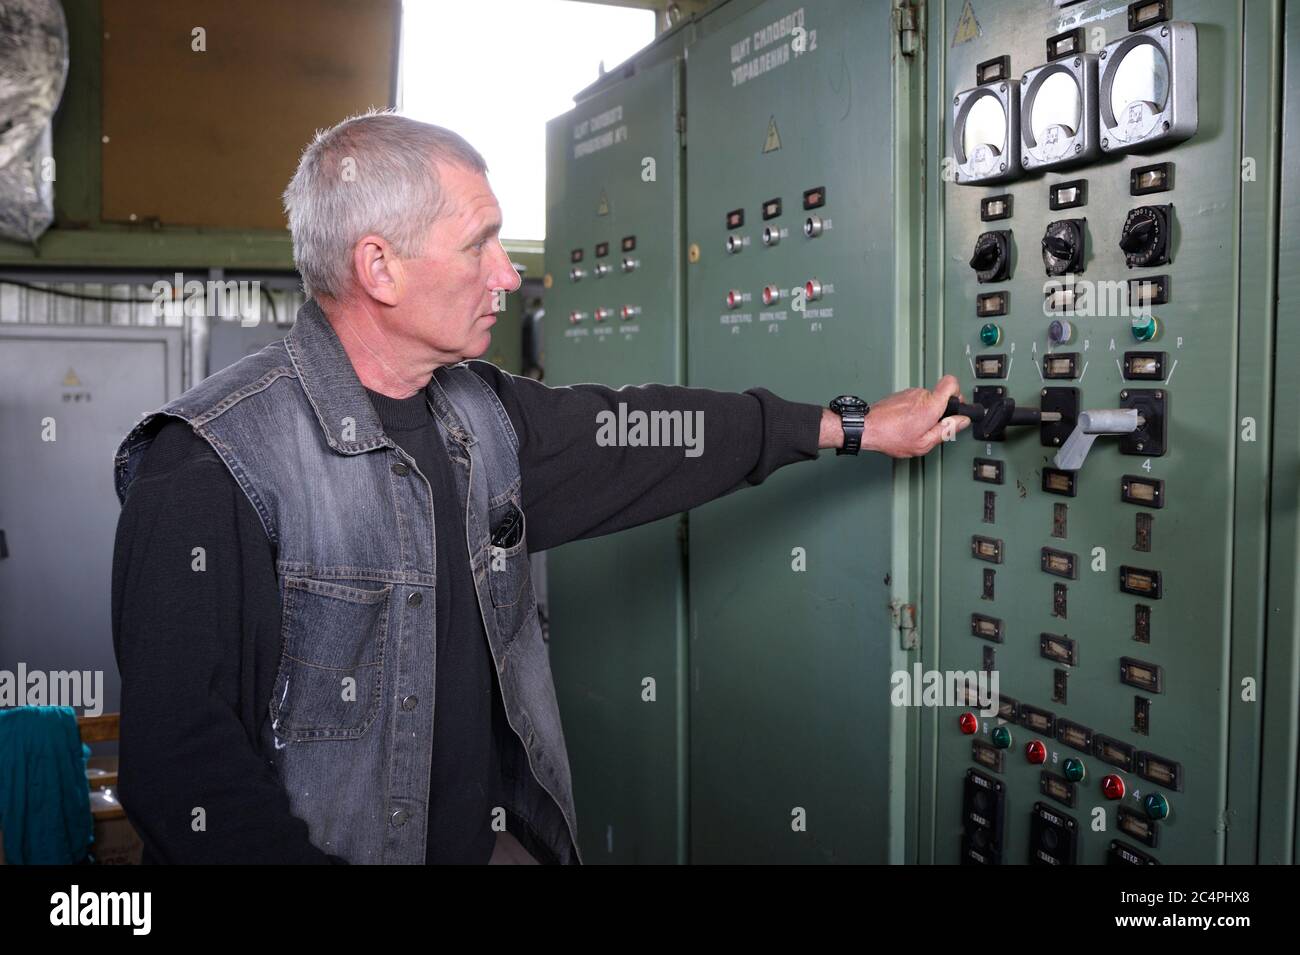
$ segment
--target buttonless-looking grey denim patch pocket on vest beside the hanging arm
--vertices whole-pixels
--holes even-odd
[[[356,739],[384,699],[389,595],[285,577],[280,670],[270,721],[281,739]]]

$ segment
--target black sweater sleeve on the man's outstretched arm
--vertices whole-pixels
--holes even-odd
[[[822,409],[766,388],[547,387],[469,366],[519,435],[533,551],[680,513],[818,456]]]

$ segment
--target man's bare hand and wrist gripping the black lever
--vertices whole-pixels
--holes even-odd
[[[919,457],[941,440],[952,440],[970,427],[965,414],[944,417],[948,399],[961,400],[961,386],[950,374],[939,379],[933,391],[906,388],[871,404],[862,431],[862,447],[890,457]],[[822,447],[842,447],[844,429],[833,411],[822,414]]]

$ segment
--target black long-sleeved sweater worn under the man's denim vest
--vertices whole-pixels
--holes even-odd
[[[601,385],[550,388],[482,363],[519,435],[529,550],[598,537],[703,504],[818,452],[820,409],[763,388]],[[422,392],[368,391],[385,433],[429,479],[437,548],[437,685],[428,863],[491,854],[500,690],[465,552],[451,465]],[[703,453],[599,447],[597,413],[703,411]],[[195,573],[192,550],[205,551]],[[446,569],[446,570],[443,570]],[[121,798],[157,863],[339,861],[308,841],[259,752],[280,660],[274,550],[211,446],[165,424],[131,485],[113,554],[122,677]],[[202,815],[198,809],[202,808]],[[199,826],[195,820],[202,819]],[[198,829],[198,832],[195,832]]]

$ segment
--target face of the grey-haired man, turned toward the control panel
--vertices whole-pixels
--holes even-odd
[[[497,324],[493,291],[515,291],[519,273],[499,242],[500,207],[488,178],[438,165],[443,214],[429,230],[424,255],[403,259],[402,331],[430,348],[439,364],[476,359]]]

